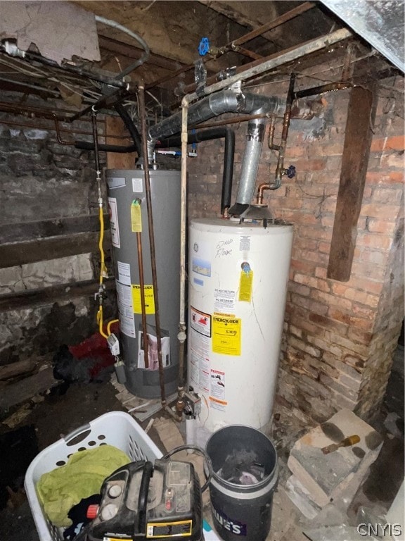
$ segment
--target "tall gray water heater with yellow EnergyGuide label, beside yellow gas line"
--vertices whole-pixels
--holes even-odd
[[[120,319],[120,342],[127,389],[142,398],[160,397],[155,328],[155,295],[150,263],[143,170],[106,171],[108,209]],[[156,273],[162,335],[165,393],[177,388],[179,345],[180,200],[179,171],[150,170]],[[148,332],[148,368],[143,356],[141,287],[137,232],[141,216],[143,282]]]

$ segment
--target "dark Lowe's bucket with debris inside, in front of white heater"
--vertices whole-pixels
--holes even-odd
[[[210,499],[215,529],[225,541],[265,541],[278,482],[274,445],[255,428],[231,425],[220,428],[210,437],[206,451],[213,468]],[[246,464],[246,457],[260,471],[256,478],[239,471],[240,466],[243,468]],[[224,465],[229,468],[229,464],[238,465],[238,474],[226,480],[221,477],[224,475],[221,470]]]

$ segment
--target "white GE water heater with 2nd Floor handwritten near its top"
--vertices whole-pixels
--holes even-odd
[[[203,444],[224,425],[270,421],[292,243],[285,223],[192,220],[188,385],[201,411],[188,442]]]

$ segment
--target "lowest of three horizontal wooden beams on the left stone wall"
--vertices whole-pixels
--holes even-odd
[[[115,288],[113,278],[104,280],[107,291]],[[98,291],[98,280],[84,280],[68,284],[44,287],[41,290],[28,290],[19,293],[0,295],[0,312],[11,310],[32,309],[41,304],[53,304],[56,301],[66,301],[77,297],[93,297]]]

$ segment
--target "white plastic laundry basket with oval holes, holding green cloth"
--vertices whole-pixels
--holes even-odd
[[[77,428],[56,443],[46,447],[32,461],[25,474],[27,492],[35,526],[40,541],[63,541],[63,528],[56,528],[44,514],[35,485],[41,475],[64,466],[71,454],[83,449],[94,449],[99,445],[114,445],[127,453],[131,461],[160,459],[162,453],[150,437],[128,413],[110,411]]]

